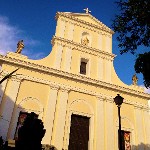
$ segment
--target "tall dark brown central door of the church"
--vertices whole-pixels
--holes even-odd
[[[89,118],[79,115],[71,116],[69,150],[88,150]]]

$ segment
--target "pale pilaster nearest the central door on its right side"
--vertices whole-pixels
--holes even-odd
[[[105,149],[104,98],[102,97],[97,97],[96,120],[96,150]]]

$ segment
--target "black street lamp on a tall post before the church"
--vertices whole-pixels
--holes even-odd
[[[118,118],[119,118],[119,150],[122,150],[122,138],[121,138],[121,117],[120,117],[120,108],[121,108],[121,104],[123,103],[123,97],[121,97],[119,94],[117,94],[117,96],[114,98],[114,102],[118,107]]]

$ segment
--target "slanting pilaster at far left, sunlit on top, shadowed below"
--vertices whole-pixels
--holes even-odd
[[[2,119],[0,120],[0,133],[4,139],[7,138],[7,133],[11,122],[15,102],[17,99],[19,86],[20,81],[17,79],[11,79],[10,81],[8,81],[8,88],[5,92],[5,99],[2,110]]]

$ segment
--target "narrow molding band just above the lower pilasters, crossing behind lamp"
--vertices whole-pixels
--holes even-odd
[[[97,99],[100,100],[100,101],[107,101],[107,102],[110,102],[110,103],[114,103],[114,99],[113,99],[114,97],[112,97],[112,96],[108,96],[108,95],[105,95],[105,94],[100,94],[98,92],[89,91],[89,90],[82,89],[82,88],[79,88],[79,87],[74,87],[72,85],[64,85],[64,84],[60,84],[60,83],[56,83],[56,82],[52,82],[52,81],[48,81],[48,80],[44,80],[44,79],[39,79],[39,78],[35,78],[35,77],[25,76],[25,75],[19,75],[19,76],[16,76],[16,77],[19,78],[20,81],[25,79],[25,80],[30,80],[30,81],[33,81],[33,82],[39,82],[39,83],[49,85],[50,88],[52,88],[52,89],[54,88],[55,90],[61,90],[62,92],[69,93],[70,91],[76,91],[76,92],[96,96]],[[117,91],[117,92],[119,92],[119,91]],[[146,93],[142,93],[142,95],[140,94],[140,96],[144,97],[144,98],[150,98],[150,96]],[[126,100],[126,99],[124,99],[123,103],[133,105],[135,108],[138,108],[138,109],[144,109],[146,111],[150,110],[148,104],[144,105],[142,103],[133,102],[131,100]]]

